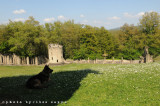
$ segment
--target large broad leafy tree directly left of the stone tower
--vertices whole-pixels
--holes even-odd
[[[46,37],[43,32],[43,27],[33,17],[24,23],[10,21],[5,33],[9,36],[7,42],[11,46],[10,52],[29,57],[46,55]]]

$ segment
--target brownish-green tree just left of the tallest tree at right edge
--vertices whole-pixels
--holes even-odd
[[[118,57],[124,57],[125,59],[136,59],[141,55],[141,51],[138,50],[137,36],[139,31],[136,26],[124,24],[120,29],[119,45],[118,45]]]

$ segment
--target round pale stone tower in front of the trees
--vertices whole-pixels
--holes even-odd
[[[63,46],[58,44],[48,45],[49,63],[63,63]]]

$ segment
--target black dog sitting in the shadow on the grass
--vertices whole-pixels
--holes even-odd
[[[50,80],[50,74],[53,72],[48,65],[45,65],[42,72],[28,79],[26,87],[30,89],[41,89],[46,88],[45,85]]]

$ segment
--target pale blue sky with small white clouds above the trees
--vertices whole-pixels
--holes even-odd
[[[0,0],[0,24],[33,16],[40,24],[74,20],[114,29],[125,23],[137,25],[151,11],[160,13],[160,0]]]

